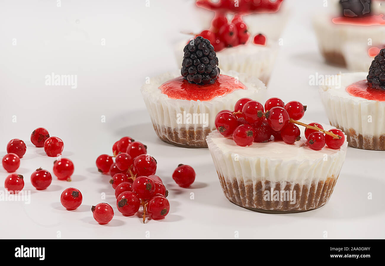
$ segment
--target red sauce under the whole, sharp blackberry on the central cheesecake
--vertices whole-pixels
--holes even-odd
[[[189,83],[180,76],[163,83],[159,89],[170,99],[210,101],[234,90],[246,89],[238,79],[226,75],[219,75],[213,84],[198,85]]]

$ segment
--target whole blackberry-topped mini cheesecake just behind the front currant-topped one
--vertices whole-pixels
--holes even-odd
[[[256,77],[218,68],[218,57],[201,36],[185,45],[182,68],[151,79],[141,92],[157,136],[185,147],[207,147],[216,114],[239,98],[263,99],[266,87]]]

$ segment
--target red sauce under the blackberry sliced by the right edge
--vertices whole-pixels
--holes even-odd
[[[373,89],[370,87],[368,81],[360,80],[350,84],[346,87],[348,94],[360,97],[367,100],[375,100],[378,102],[385,102],[385,90]]]

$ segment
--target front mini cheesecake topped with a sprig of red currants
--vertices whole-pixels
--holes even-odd
[[[229,201],[261,212],[302,212],[326,204],[345,160],[346,136],[298,121],[305,110],[297,101],[271,98],[263,106],[240,99],[234,111],[218,113],[207,144]]]

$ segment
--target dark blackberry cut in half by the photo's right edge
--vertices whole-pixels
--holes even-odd
[[[385,48],[372,61],[366,79],[372,88],[385,90]]]

